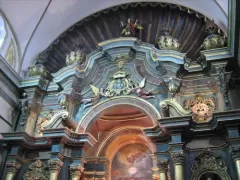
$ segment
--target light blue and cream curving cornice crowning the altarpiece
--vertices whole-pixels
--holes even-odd
[[[108,53],[112,56],[110,50],[119,48],[118,54],[126,53],[126,50],[134,49],[136,53],[143,53],[145,57],[143,59],[146,64],[146,70],[154,75],[157,75],[156,67],[159,63],[164,66],[168,72],[175,73],[179,69],[179,65],[184,64],[185,53],[177,51],[158,50],[153,45],[147,43],[141,43],[137,45],[137,38],[116,38],[108,41],[104,41],[98,44],[100,50],[94,50],[87,55],[86,61],[83,65],[72,64],[60,69],[56,73],[52,73],[55,83],[61,83],[66,78],[76,74],[79,78],[85,78],[89,75],[89,72],[94,67],[94,64],[100,58],[106,59],[104,56]],[[125,48],[125,49],[122,49]],[[114,65],[114,62],[109,61],[109,66]],[[166,74],[167,75],[167,74]],[[158,75],[159,76],[159,75]]]

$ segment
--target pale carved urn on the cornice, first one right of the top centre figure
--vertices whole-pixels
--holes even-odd
[[[161,50],[179,51],[181,45],[178,39],[171,36],[171,30],[166,28],[161,33],[162,35],[157,40],[158,48]]]

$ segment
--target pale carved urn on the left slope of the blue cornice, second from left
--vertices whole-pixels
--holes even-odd
[[[66,55],[66,64],[82,63],[86,58],[86,53],[81,50],[82,45],[76,45],[69,54]]]

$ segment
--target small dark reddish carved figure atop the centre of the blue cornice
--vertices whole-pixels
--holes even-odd
[[[123,24],[123,22],[120,22],[122,27],[121,36],[134,36],[136,30],[142,30],[143,26],[138,24],[138,20],[135,22],[128,18],[126,24]]]

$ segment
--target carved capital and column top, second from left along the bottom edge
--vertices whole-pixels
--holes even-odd
[[[63,162],[60,160],[49,160],[48,165],[50,170],[49,180],[57,180],[58,174],[63,166]]]

